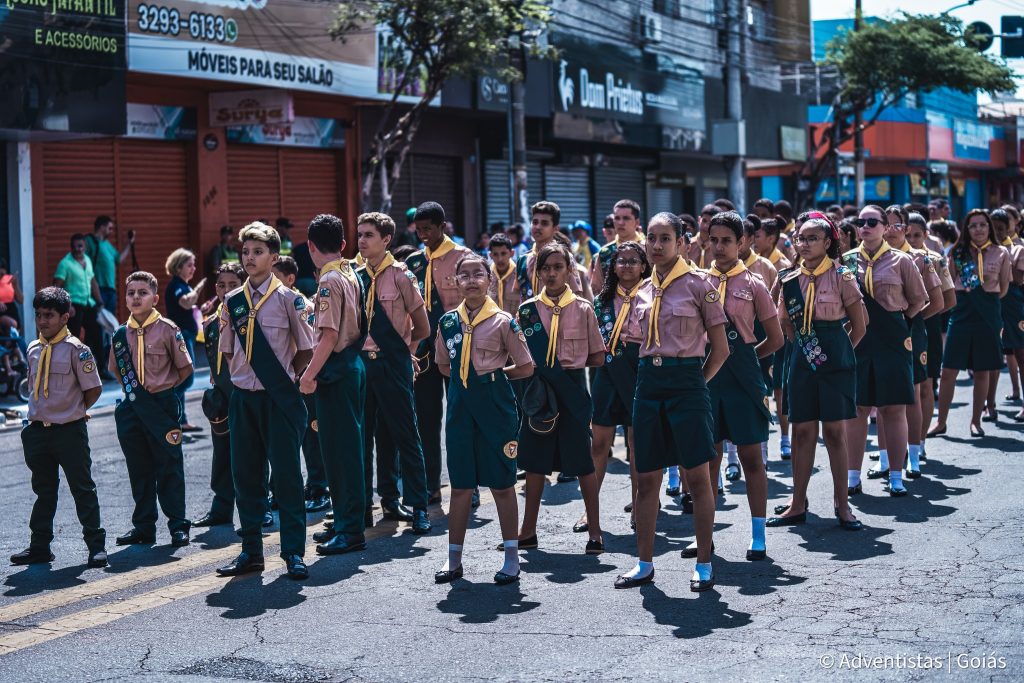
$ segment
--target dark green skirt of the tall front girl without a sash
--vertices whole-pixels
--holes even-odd
[[[633,401],[638,472],[692,469],[715,457],[711,397],[701,358],[641,358]]]

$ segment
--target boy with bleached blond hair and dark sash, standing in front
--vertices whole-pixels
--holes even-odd
[[[305,319],[305,299],[273,274],[281,251],[278,231],[253,222],[242,228],[239,242],[249,278],[227,295],[220,316],[220,351],[234,385],[228,419],[242,552],[217,573],[234,577],[263,569],[260,529],[269,460],[281,516],[281,556],[289,578],[307,579],[299,446],[308,414],[295,378],[309,361],[312,329]]]

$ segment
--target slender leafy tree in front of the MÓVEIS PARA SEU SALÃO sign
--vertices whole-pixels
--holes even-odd
[[[374,132],[362,169],[364,210],[391,209],[423,115],[453,78],[489,74],[505,82],[523,78],[514,51],[552,56],[539,37],[551,19],[539,0],[355,0],[341,2],[331,27],[335,39],[377,27],[386,41],[382,69],[391,93]],[[379,203],[374,206],[374,188]]]

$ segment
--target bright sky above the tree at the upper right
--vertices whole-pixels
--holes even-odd
[[[935,14],[948,10],[962,4],[964,0],[862,0],[864,16],[892,16],[900,10],[911,14]],[[811,19],[841,19],[853,16],[853,0],[811,0]],[[961,7],[952,12],[952,15],[959,18],[964,24],[972,22],[984,22],[992,27],[992,31],[999,33],[999,18],[1001,16],[1024,15],[1024,0],[977,0],[970,7]],[[994,44],[987,54],[998,56],[999,39],[996,38]],[[1011,69],[1017,73],[1018,89],[1017,96],[1024,96],[1024,59],[1011,59]],[[987,101],[985,95],[979,96],[979,101]]]

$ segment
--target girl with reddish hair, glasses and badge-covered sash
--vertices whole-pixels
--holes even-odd
[[[795,242],[801,265],[783,270],[778,298],[782,331],[792,340],[786,364],[790,421],[793,423],[793,498],[775,508],[768,526],[807,520],[807,486],[814,467],[818,423],[833,474],[836,517],[843,528],[861,523],[847,502],[846,421],[857,415],[854,347],[866,318],[853,270],[839,260],[836,225],[812,212]],[[849,329],[845,324],[849,324]]]

